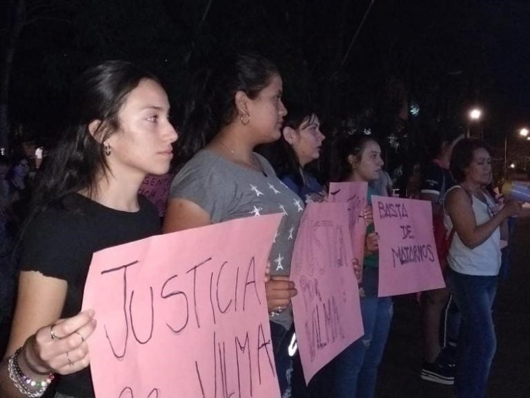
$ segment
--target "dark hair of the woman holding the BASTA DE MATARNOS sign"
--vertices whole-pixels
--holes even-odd
[[[360,160],[362,152],[369,142],[377,142],[370,135],[349,134],[338,136],[333,142],[333,153],[331,155],[330,181],[341,182],[351,174],[349,155]]]

